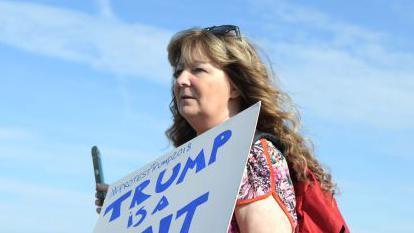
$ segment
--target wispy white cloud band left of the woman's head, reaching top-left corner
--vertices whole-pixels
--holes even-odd
[[[99,15],[42,4],[0,2],[0,43],[87,64],[116,75],[169,84],[167,30],[127,24],[99,0]]]

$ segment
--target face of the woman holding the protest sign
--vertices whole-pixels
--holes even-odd
[[[179,113],[202,133],[239,112],[239,93],[227,74],[207,59],[174,72],[174,95]]]

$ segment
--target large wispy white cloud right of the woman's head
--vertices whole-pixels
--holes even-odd
[[[287,1],[255,1],[264,27],[288,40],[261,40],[282,83],[307,111],[350,124],[414,128],[414,53],[393,49],[386,32],[336,20]],[[295,30],[295,26],[300,29]],[[288,28],[288,29],[287,29]]]

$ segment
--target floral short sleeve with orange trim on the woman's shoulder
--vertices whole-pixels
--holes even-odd
[[[270,140],[260,139],[250,149],[237,204],[265,199],[273,199],[295,227],[296,198],[286,158]]]

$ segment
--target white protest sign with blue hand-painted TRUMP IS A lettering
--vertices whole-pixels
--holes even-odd
[[[112,184],[94,233],[225,233],[260,103]]]

